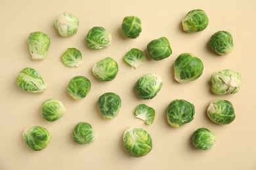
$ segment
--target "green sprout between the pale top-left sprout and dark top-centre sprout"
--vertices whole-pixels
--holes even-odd
[[[90,48],[100,50],[110,46],[112,35],[104,27],[93,27],[89,30],[86,40]]]

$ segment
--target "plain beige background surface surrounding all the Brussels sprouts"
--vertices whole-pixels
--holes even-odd
[[[0,1],[1,21],[1,118],[0,169],[256,169],[255,114],[255,16],[256,1]],[[207,29],[200,33],[184,33],[181,20],[189,10],[203,9],[209,17]],[[60,37],[54,21],[62,12],[79,18],[79,29],[73,37]],[[142,20],[142,33],[137,39],[121,35],[125,16]],[[85,37],[91,27],[102,26],[112,33],[112,44],[103,50],[91,50]],[[216,31],[229,31],[234,37],[234,51],[217,56],[209,48],[209,38]],[[47,58],[32,61],[27,39],[33,31],[43,31],[51,38]],[[152,39],[167,37],[173,54],[153,61],[146,45]],[[66,48],[75,47],[83,54],[78,68],[66,67],[60,57]],[[123,61],[131,48],[144,51],[146,60],[138,69]],[[179,54],[191,52],[204,63],[203,75],[194,82],[179,84],[173,78],[173,62]],[[96,61],[112,57],[119,64],[119,73],[111,82],[100,82],[92,74]],[[22,91],[16,76],[24,67],[33,67],[45,78],[49,87],[45,93]],[[213,95],[209,77],[223,69],[233,69],[242,75],[240,92],[234,95]],[[146,73],[158,73],[163,88],[152,100],[137,97],[134,85]],[[75,101],[66,90],[73,76],[91,80],[91,92]],[[121,96],[122,107],[113,120],[100,117],[97,100],[102,93]],[[56,122],[41,117],[41,103],[50,97],[60,99],[68,111]],[[167,105],[174,99],[186,99],[195,105],[194,120],[175,129],[165,118]],[[232,124],[220,126],[206,116],[207,106],[214,99],[228,99],[236,110]],[[145,103],[156,110],[154,124],[147,126],[135,118],[135,108]],[[89,122],[98,133],[94,143],[79,145],[72,139],[75,124]],[[39,152],[26,146],[24,129],[43,126],[52,135],[51,143]],[[127,154],[122,136],[129,126],[142,127],[152,136],[153,149],[142,158]],[[218,137],[214,148],[196,150],[190,136],[199,127],[211,129]]]

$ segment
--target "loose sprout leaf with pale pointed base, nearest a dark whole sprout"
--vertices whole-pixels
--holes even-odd
[[[129,50],[129,52],[125,54],[123,59],[126,63],[131,65],[131,67],[137,69],[138,67],[140,67],[140,65],[143,64],[145,57],[142,50],[132,48],[131,50]]]

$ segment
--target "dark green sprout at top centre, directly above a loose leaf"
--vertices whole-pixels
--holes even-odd
[[[125,37],[131,39],[139,37],[142,31],[140,18],[137,16],[125,16],[121,24],[121,31]]]

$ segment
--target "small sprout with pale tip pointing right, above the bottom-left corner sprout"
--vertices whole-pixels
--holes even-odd
[[[47,99],[41,106],[41,114],[43,118],[49,122],[58,120],[65,112],[66,107],[64,107],[62,101],[58,99]]]

